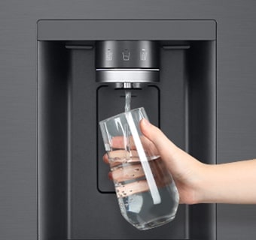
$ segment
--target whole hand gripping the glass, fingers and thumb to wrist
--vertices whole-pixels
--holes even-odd
[[[141,138],[145,151],[151,151],[151,155],[160,155],[161,164],[166,164],[166,169],[172,174],[172,178],[178,188],[180,203],[197,203],[200,199],[200,176],[205,164],[200,163],[200,161],[175,146],[169,139],[167,139],[159,128],[154,127],[154,125],[150,124],[145,119],[141,121],[140,127],[142,133],[145,135]],[[112,144],[117,149],[121,148],[123,146],[123,138],[116,137],[113,139]],[[135,149],[132,141],[130,141],[130,148]],[[137,152],[135,150],[130,152],[133,155],[133,157],[130,158],[130,161],[138,161]],[[126,151],[124,150],[112,151],[109,152],[108,155],[105,154],[103,159],[106,163],[110,163],[111,168],[113,169],[115,165],[120,164],[117,159],[125,159],[125,154]],[[109,162],[108,157],[116,158],[116,160]],[[126,180],[134,177],[133,169],[126,169]],[[135,177],[144,175],[141,165],[138,165],[138,169]],[[109,177],[118,182],[122,180],[123,174],[120,174],[120,171],[118,172],[117,170],[114,170],[109,173]],[[160,183],[160,179],[156,181],[157,184]],[[143,190],[147,187],[143,182],[139,184],[133,186],[133,189]]]

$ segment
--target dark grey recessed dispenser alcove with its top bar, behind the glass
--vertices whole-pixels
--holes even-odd
[[[215,29],[212,20],[38,22],[41,239],[215,239],[215,205],[180,205],[172,223],[146,232],[122,219],[98,121],[123,112],[123,89],[96,83],[94,65],[97,40],[157,40],[160,82],[133,89],[132,107],[148,106],[149,118],[177,145],[215,163]]]

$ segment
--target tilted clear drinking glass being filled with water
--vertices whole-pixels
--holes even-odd
[[[145,230],[174,219],[178,190],[154,143],[142,135],[143,107],[99,122],[123,217]]]

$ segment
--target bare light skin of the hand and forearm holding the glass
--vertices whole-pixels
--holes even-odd
[[[178,188],[180,203],[256,204],[256,159],[209,165],[200,162],[171,142],[147,120],[140,122],[145,148],[160,154]],[[117,145],[121,144],[116,139]],[[107,154],[103,160],[109,163]],[[113,163],[111,163],[113,164]],[[109,177],[113,180],[113,174]]]

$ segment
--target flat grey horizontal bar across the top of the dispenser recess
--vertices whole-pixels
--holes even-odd
[[[147,1],[147,3],[150,6],[150,2]],[[152,3],[153,1],[151,1]],[[139,7],[139,5],[136,4],[133,7]],[[177,5],[177,2],[175,2],[175,5]],[[109,6],[105,7],[108,9]],[[133,7],[131,10],[133,10]],[[102,6],[100,9],[102,9]],[[136,13],[138,14],[139,11],[137,10]],[[153,17],[153,15],[148,15],[145,9],[141,12],[145,14],[143,17],[138,15],[135,17],[136,14],[117,17],[118,14],[115,14],[114,11],[112,13],[114,13],[114,19],[113,16],[108,16],[105,19],[105,14],[101,12],[96,22],[93,21],[93,19],[97,19],[95,13],[92,14],[92,17],[82,17],[80,19],[78,17],[72,21],[69,21],[70,18],[66,20],[47,20],[44,18],[38,21],[38,40],[214,40],[216,37],[215,20],[211,17],[201,19],[178,17],[175,19],[170,17],[169,14],[168,17],[161,16],[162,11],[158,13],[158,17],[154,11]],[[117,19],[118,21],[114,21]],[[171,23],[171,26],[169,20],[175,20]],[[148,24],[150,24],[150,28],[145,27]],[[173,30],[169,31],[169,28]],[[133,29],[133,34],[136,37],[131,37],[128,29]],[[90,33],[88,30],[90,30]],[[119,37],[113,39],[113,35],[117,32]]]

